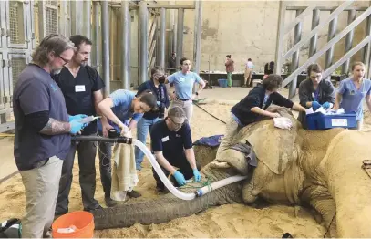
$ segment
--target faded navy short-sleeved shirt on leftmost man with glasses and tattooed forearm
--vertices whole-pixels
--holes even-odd
[[[62,91],[43,68],[26,66],[15,84],[13,106],[15,113],[15,163],[18,170],[35,168],[37,161],[57,156],[64,160],[69,151],[69,133],[45,135],[29,125],[25,116],[49,111],[49,118],[68,121]]]

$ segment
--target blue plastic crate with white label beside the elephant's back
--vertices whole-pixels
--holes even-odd
[[[308,130],[327,130],[332,128],[356,128],[356,113],[324,115],[316,112],[306,116]]]

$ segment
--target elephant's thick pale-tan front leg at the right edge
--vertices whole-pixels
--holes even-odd
[[[335,199],[338,237],[371,237],[371,179],[362,169],[362,161],[371,155],[366,140],[370,136],[345,131],[335,137],[330,145],[333,148],[327,151],[325,174]]]

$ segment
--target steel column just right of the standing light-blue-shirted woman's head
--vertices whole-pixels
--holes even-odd
[[[201,67],[201,34],[202,34],[202,1],[196,1],[194,19],[194,40],[193,40],[193,65],[194,72],[200,73]]]

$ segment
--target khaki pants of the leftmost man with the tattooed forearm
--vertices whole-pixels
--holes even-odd
[[[26,195],[23,238],[42,238],[53,223],[62,165],[63,161],[54,156],[41,167],[20,171]]]

